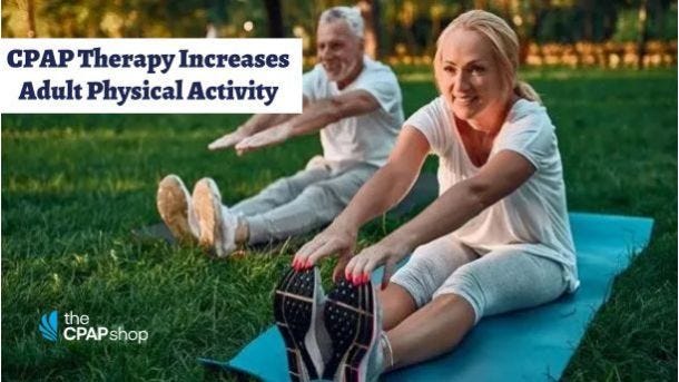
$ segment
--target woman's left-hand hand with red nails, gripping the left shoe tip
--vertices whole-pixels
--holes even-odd
[[[297,251],[293,258],[293,267],[305,270],[314,266],[321,258],[336,254],[340,258],[333,273],[333,280],[336,281],[354,253],[357,234],[355,228],[347,228],[340,223],[331,224]]]

